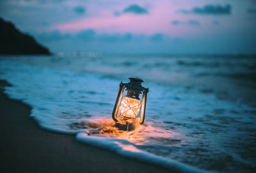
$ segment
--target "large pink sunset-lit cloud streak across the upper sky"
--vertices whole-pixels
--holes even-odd
[[[189,26],[172,26],[172,20],[188,20],[188,16],[177,13],[179,5],[164,1],[156,3],[148,9],[147,15],[135,15],[125,13],[116,17],[113,13],[105,11],[105,15],[95,17],[84,17],[84,19],[74,20],[51,27],[51,30],[58,29],[65,33],[77,33],[83,29],[94,29],[97,33],[133,33],[133,34],[155,34],[163,33],[171,37],[175,36],[194,36],[208,29]],[[104,10],[102,10],[104,13]]]

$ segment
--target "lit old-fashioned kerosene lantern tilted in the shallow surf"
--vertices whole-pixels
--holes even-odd
[[[131,120],[138,119],[139,123],[143,124],[148,88],[141,86],[143,80],[138,77],[129,79],[129,83],[120,83],[112,117],[116,122],[131,122]],[[127,93],[123,97],[124,90]],[[140,94],[143,94],[142,99],[140,99]]]

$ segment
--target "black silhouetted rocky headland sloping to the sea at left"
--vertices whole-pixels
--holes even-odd
[[[0,17],[0,54],[47,54],[49,50],[32,36],[20,33],[11,22]]]

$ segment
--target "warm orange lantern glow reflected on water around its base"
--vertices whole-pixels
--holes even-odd
[[[115,127],[113,119],[89,119],[83,123],[84,133],[88,135],[97,135],[102,137],[113,137],[116,139],[124,139],[136,145],[154,145],[158,144],[157,140],[169,140],[180,135],[177,132],[155,128],[150,123],[136,123],[136,127],[132,131],[119,130]]]

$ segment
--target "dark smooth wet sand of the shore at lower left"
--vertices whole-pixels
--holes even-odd
[[[0,80],[2,172],[173,172],[40,128],[29,117],[31,107],[10,100],[4,86]]]

